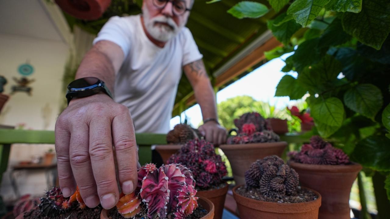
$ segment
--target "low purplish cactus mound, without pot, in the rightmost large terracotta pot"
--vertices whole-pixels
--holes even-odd
[[[334,148],[319,136],[310,138],[310,144],[302,145],[300,152],[290,152],[292,161],[303,164],[340,165],[350,164],[348,155],[341,149]]]

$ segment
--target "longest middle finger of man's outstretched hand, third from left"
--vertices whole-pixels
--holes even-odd
[[[102,207],[110,209],[119,200],[112,152],[111,119],[106,115],[94,117],[89,127],[89,155],[97,194],[99,194]]]

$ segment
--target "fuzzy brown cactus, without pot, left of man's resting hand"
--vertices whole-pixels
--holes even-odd
[[[193,129],[190,125],[177,124],[174,129],[167,134],[168,144],[184,144],[189,140],[201,138],[202,134],[198,129]]]

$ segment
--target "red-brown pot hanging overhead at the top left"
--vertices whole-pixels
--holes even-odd
[[[111,0],[55,0],[68,14],[85,20],[100,18],[110,6]]]

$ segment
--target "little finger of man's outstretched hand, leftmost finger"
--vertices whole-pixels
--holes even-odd
[[[57,171],[60,188],[64,197],[69,197],[76,191],[76,182],[74,182],[72,167],[69,162],[70,137],[71,135],[68,130],[56,124],[55,151],[57,154]]]

